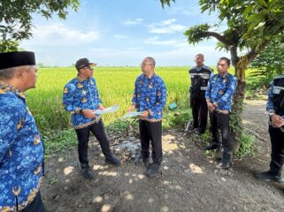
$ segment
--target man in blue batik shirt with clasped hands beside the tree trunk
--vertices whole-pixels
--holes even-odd
[[[222,148],[223,155],[218,167],[227,169],[232,161],[232,141],[230,138],[230,111],[232,96],[236,89],[236,78],[228,73],[230,60],[219,58],[218,74],[212,74],[205,93],[208,109],[211,111],[212,143],[207,150]],[[219,136],[220,132],[220,136]],[[219,140],[222,138],[222,141]],[[220,147],[221,146],[221,147]]]

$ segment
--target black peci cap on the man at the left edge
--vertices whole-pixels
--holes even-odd
[[[0,53],[0,70],[21,65],[35,65],[35,53],[32,51]]]

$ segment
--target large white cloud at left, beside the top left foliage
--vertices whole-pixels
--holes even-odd
[[[100,32],[89,30],[85,32],[58,23],[35,27],[32,33],[33,39],[23,42],[23,46],[79,46],[100,39]]]

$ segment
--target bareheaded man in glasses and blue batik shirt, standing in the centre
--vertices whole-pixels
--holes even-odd
[[[163,79],[155,73],[155,59],[146,57],[141,67],[142,74],[137,77],[134,85],[134,96],[129,112],[142,112],[139,120],[141,134],[141,155],[135,158],[134,163],[148,164],[150,156],[150,141],[152,145],[152,161],[148,164],[146,174],[156,177],[163,160],[162,151],[162,118],[166,101],[166,88]]]

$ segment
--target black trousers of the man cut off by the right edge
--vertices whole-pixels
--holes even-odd
[[[284,163],[284,133],[279,128],[269,126],[269,134],[272,142],[272,160],[269,172],[275,176],[281,176]]]

